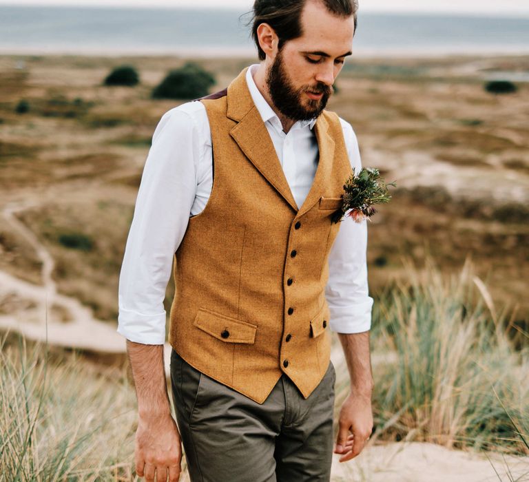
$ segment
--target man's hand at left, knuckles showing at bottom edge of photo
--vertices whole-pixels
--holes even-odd
[[[173,417],[143,416],[138,420],[134,446],[136,474],[147,481],[177,482],[180,479],[182,446]]]

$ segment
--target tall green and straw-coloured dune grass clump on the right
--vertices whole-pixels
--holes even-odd
[[[376,437],[529,454],[529,338],[512,340],[468,258],[446,277],[431,260],[375,303],[373,344],[396,354],[376,366]],[[529,470],[529,468],[528,468]]]

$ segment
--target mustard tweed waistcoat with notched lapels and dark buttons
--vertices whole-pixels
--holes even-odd
[[[174,260],[169,343],[191,366],[262,404],[285,373],[307,398],[329,366],[331,215],[351,174],[340,120],[322,112],[320,158],[295,204],[243,70],[204,99],[214,182]],[[353,242],[353,240],[351,240]]]

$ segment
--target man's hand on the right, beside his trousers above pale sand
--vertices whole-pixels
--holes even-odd
[[[373,430],[371,396],[349,394],[342,404],[338,419],[335,454],[342,454],[340,462],[356,457]]]

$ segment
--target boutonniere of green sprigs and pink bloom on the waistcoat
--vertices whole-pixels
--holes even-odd
[[[388,186],[396,187],[395,181],[386,184],[380,177],[378,169],[362,167],[356,175],[353,168],[353,174],[344,184],[342,207],[333,213],[333,222],[342,221],[345,213],[356,222],[362,222],[364,219],[370,220],[371,216],[377,212],[373,205],[391,200],[391,196],[388,195]]]

